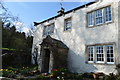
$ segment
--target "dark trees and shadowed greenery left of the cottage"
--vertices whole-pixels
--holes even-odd
[[[15,26],[2,26],[3,67],[31,63],[32,36],[17,32]],[[29,60],[28,60],[29,59]]]

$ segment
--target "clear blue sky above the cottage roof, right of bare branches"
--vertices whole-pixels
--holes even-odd
[[[62,2],[65,11],[76,8],[86,2]],[[31,27],[33,22],[41,22],[57,15],[60,2],[4,2],[4,6],[24,23],[24,28]]]

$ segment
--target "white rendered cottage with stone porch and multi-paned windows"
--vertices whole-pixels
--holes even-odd
[[[116,65],[120,64],[119,0],[98,0],[67,12],[62,8],[57,16],[35,22],[35,26],[32,63],[37,54],[41,72],[54,68],[52,47],[59,47],[55,49],[58,53],[66,50],[63,54],[67,54],[66,63],[71,72],[117,72]],[[60,45],[56,46],[58,43]]]

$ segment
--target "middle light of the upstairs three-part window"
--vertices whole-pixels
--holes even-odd
[[[95,24],[98,25],[102,23],[103,23],[102,9],[99,9],[95,11]]]

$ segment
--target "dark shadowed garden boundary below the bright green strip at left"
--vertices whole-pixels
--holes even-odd
[[[2,55],[2,65],[3,68],[8,66],[15,65],[30,65],[31,64],[31,54],[24,51],[4,51],[5,53]]]

